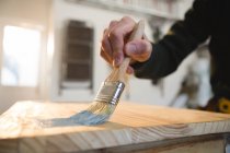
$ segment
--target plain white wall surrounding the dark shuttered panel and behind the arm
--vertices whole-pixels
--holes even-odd
[[[103,30],[107,27],[111,20],[119,20],[124,15],[133,16],[131,14],[124,14],[120,12],[106,11],[102,9],[80,5],[77,3],[69,3],[62,0],[54,2],[54,30],[55,30],[55,54],[54,54],[54,67],[53,67],[53,89],[51,98],[54,101],[73,101],[73,102],[91,102],[99,90],[102,81],[110,74],[107,63],[100,57],[100,42],[102,38]],[[133,16],[138,20],[138,16]],[[64,47],[62,36],[65,23],[68,20],[81,20],[92,23],[95,30],[94,35],[94,81],[93,91],[90,90],[64,90],[59,91],[59,63],[60,52]],[[146,23],[146,33],[151,37],[151,30]],[[137,102],[141,104],[157,104],[168,105],[176,94],[182,78],[186,70],[186,63],[188,63],[193,57],[185,61],[180,67],[176,73],[168,76],[164,80],[163,93],[158,86],[153,86],[149,80],[139,80],[135,76],[130,79],[129,98],[128,101]],[[125,96],[124,96],[125,98]]]

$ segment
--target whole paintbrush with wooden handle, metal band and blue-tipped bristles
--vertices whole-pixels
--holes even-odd
[[[141,39],[145,24],[139,21],[131,32],[128,42]],[[119,68],[114,68],[112,73],[102,83],[94,102],[85,110],[70,118],[80,125],[100,125],[107,121],[114,113],[120,95],[126,85],[126,70],[130,58],[126,57]]]

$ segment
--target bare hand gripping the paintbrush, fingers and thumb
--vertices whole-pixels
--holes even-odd
[[[133,19],[125,16],[120,21],[112,21],[105,28],[101,56],[110,64],[118,67],[126,56],[131,58],[131,62],[143,62],[150,58],[152,45],[146,36],[142,39],[127,42],[135,24]],[[127,72],[133,73],[134,69],[129,66]]]

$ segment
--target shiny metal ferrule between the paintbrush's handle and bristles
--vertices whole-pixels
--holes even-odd
[[[105,81],[102,83],[95,101],[117,105],[124,89],[125,83],[123,82]]]

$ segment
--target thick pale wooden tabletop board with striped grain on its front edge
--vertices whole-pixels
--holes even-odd
[[[0,117],[0,145],[19,141],[23,152],[76,152],[230,132],[230,116],[120,102],[100,126],[43,127],[39,120],[65,120],[85,104],[20,102]],[[1,152],[1,149],[0,149]]]

